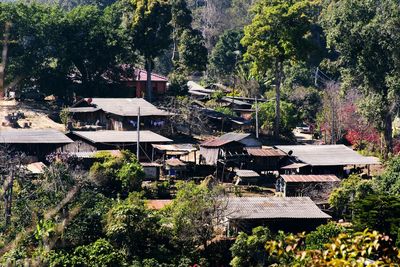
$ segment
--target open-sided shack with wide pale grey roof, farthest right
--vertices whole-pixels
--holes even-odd
[[[302,174],[335,174],[344,177],[345,166],[367,166],[377,165],[379,159],[375,157],[365,157],[345,145],[295,145],[277,146],[280,150],[288,154],[292,163],[307,164],[300,167],[298,172]],[[287,174],[295,174],[294,169],[287,169]]]

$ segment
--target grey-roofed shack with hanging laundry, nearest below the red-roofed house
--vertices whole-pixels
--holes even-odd
[[[77,129],[129,131],[137,128],[139,108],[142,129],[160,131],[170,115],[143,98],[87,98],[68,110]]]

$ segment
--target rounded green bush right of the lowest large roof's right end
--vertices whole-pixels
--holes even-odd
[[[357,175],[351,175],[342,181],[340,187],[335,188],[330,197],[329,204],[337,215],[349,217],[352,214],[353,203],[373,193],[375,185],[371,180],[363,180]]]

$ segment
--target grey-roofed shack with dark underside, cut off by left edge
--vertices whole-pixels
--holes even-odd
[[[0,144],[25,153],[31,162],[43,161],[52,152],[62,152],[73,141],[53,129],[10,129],[0,131]]]

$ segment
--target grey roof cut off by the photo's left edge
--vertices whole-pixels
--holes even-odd
[[[10,129],[0,131],[0,143],[5,144],[69,144],[64,133],[54,129]]]

